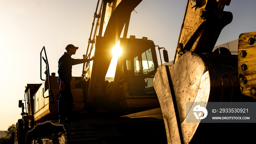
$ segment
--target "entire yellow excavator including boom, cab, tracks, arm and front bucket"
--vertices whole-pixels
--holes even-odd
[[[158,66],[156,52],[164,48],[147,37],[127,38],[131,12],[141,1],[98,0],[83,55],[94,60],[84,63],[82,76],[71,80],[72,123],[58,124],[59,85],[55,73],[50,75],[42,48],[40,65],[42,71],[42,60],[46,64],[46,78],[41,75],[43,83],[26,86],[25,103],[19,101],[22,119],[16,123],[15,144],[188,144],[232,141],[233,136],[249,139],[252,133],[245,129],[253,128],[249,124],[185,122],[186,102],[253,102],[256,96],[254,65],[248,62],[253,60],[256,33],[240,35],[238,56],[225,49],[212,53],[221,30],[232,21],[231,12],[223,11],[231,0],[188,0],[173,65],[165,66]],[[114,47],[122,53],[114,77],[106,77],[113,70],[109,65],[114,61]],[[163,58],[169,62],[165,49]]]

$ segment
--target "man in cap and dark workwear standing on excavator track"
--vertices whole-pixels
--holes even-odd
[[[67,52],[64,52],[64,54],[60,57],[58,69],[58,83],[60,86],[60,96],[58,101],[59,124],[70,122],[72,117],[73,96],[70,88],[70,82],[72,79],[72,65],[82,64],[84,62],[93,60],[93,57],[90,59],[71,58],[71,56],[75,54],[76,50],[78,49],[78,47],[75,47],[72,44],[67,45],[65,49]]]

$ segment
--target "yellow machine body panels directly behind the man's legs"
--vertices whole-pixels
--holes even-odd
[[[35,121],[50,120],[58,114],[58,99],[59,99],[59,84],[57,81],[58,77],[50,77],[52,87],[52,97],[44,98],[50,95],[48,77],[39,87],[35,93],[35,107],[34,107],[34,119]],[[85,109],[85,102],[83,98],[82,88],[76,88],[75,77],[71,80],[71,92],[73,95],[73,111],[83,111]]]

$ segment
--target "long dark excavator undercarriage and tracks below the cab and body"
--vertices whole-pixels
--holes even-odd
[[[127,118],[82,120],[70,124],[46,121],[27,133],[29,144],[167,143],[163,120]]]

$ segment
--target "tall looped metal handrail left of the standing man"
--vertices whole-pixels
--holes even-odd
[[[44,50],[44,53],[45,53],[45,58],[42,57],[42,52]],[[51,83],[50,83],[50,71],[49,71],[49,63],[48,63],[48,59],[47,59],[47,55],[46,55],[46,50],[45,50],[45,46],[43,46],[41,52],[40,52],[40,79],[44,81],[44,79],[42,79],[42,59],[44,60],[45,64],[46,64],[46,78],[48,77],[48,83],[49,83],[49,91],[50,91],[50,95],[49,96],[44,96],[43,94],[43,97],[44,98],[49,98],[49,97],[52,97],[52,102],[54,102],[54,98],[53,98],[53,93],[52,93],[52,88],[51,88]],[[44,92],[43,92],[44,93]]]

